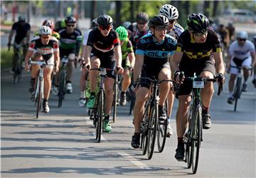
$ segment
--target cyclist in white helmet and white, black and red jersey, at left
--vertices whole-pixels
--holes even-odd
[[[47,62],[44,72],[44,100],[43,111],[48,113],[50,108],[48,106],[48,98],[50,96],[51,81],[50,76],[53,72],[53,64],[55,63],[56,72],[60,63],[58,40],[51,35],[51,29],[48,26],[41,26],[38,30],[39,36],[36,36],[31,40],[29,44],[28,52],[25,57],[25,69],[28,70],[28,60],[32,57],[35,61],[45,60]],[[39,67],[32,65],[32,77],[36,78]]]

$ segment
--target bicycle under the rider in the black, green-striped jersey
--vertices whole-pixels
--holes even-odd
[[[60,108],[62,106],[63,103],[63,99],[65,96],[65,92],[66,92],[66,78],[67,78],[67,73],[68,73],[68,68],[67,68],[67,64],[68,64],[68,57],[67,56],[63,56],[61,59],[62,65],[60,68],[60,80],[59,80],[59,90],[58,90],[58,108]]]

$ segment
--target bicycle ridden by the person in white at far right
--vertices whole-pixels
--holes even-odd
[[[238,69],[238,75],[236,77],[237,79],[236,79],[235,88],[233,91],[233,97],[234,97],[234,101],[235,101],[234,111],[236,111],[237,106],[238,106],[238,99],[240,99],[241,94],[242,94],[242,87],[241,87],[242,86],[242,73],[241,73],[242,67],[238,67],[238,66],[230,66],[230,67]],[[249,70],[249,68],[248,68],[248,70]]]

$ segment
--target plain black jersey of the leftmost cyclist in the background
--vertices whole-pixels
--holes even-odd
[[[28,30],[31,30],[31,26],[29,25],[29,23],[25,23],[24,26],[21,26],[21,23],[16,22],[11,27],[11,30],[16,30],[14,41],[19,44],[24,38],[26,38],[26,33],[28,32]]]

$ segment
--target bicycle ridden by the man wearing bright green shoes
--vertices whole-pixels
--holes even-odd
[[[103,131],[103,116],[105,116],[106,106],[105,106],[105,89],[104,80],[107,78],[107,71],[114,71],[114,69],[106,69],[105,67],[90,69],[99,71],[100,82],[99,91],[96,95],[95,106],[90,110],[90,120],[93,121],[93,125],[96,128],[96,140],[100,143],[101,133]]]

